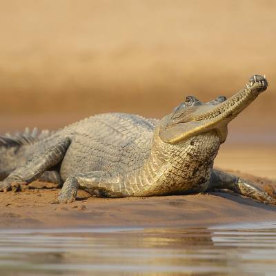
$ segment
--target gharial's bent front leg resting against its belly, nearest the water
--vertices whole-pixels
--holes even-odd
[[[101,195],[102,197],[126,196],[117,173],[95,171],[68,177],[59,193],[58,203],[75,201],[79,187],[91,195]]]

